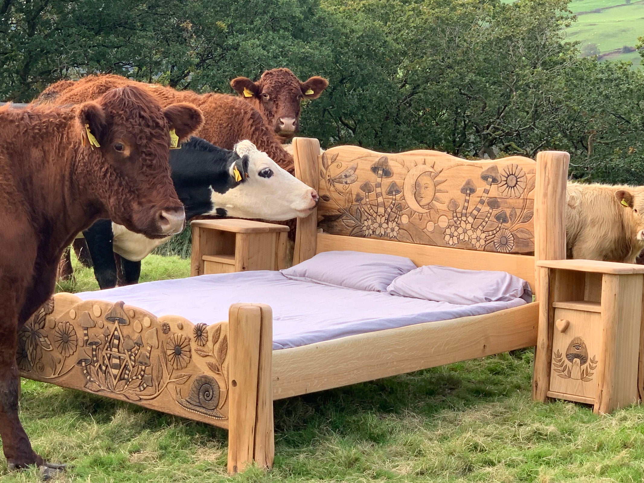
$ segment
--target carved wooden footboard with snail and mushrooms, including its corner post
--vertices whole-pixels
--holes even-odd
[[[123,302],[56,294],[19,334],[22,377],[229,429],[229,471],[272,466],[272,312],[234,304],[194,325]]]

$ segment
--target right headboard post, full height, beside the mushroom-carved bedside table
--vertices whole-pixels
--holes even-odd
[[[536,155],[535,184],[535,262],[540,260],[565,260],[565,204],[570,155],[563,151],[542,151]],[[535,295],[540,301],[537,348],[532,397],[547,401],[550,386],[552,353],[549,327],[551,285],[550,269],[536,267]]]

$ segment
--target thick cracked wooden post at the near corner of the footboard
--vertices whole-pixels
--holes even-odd
[[[272,331],[268,305],[231,305],[229,473],[243,471],[253,461],[260,468],[273,465]]]

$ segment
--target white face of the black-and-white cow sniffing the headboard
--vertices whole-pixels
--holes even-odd
[[[304,218],[317,206],[316,190],[282,169],[252,142],[244,140],[233,150],[248,156],[248,176],[225,193],[213,191],[213,211],[223,208],[226,216],[283,221]],[[234,165],[231,166],[231,176]]]

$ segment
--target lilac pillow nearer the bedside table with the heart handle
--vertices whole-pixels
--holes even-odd
[[[507,272],[462,270],[440,265],[426,265],[399,276],[387,292],[402,297],[449,302],[458,305],[532,300],[530,286]]]

